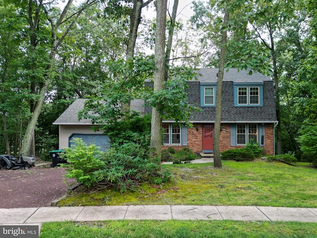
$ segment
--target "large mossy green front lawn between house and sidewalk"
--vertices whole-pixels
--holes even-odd
[[[70,193],[60,206],[183,204],[317,208],[317,170],[279,162],[223,161],[212,164],[163,165],[173,179],[139,191]]]

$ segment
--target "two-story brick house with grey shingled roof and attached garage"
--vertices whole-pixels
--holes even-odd
[[[217,68],[201,69],[197,81],[187,82],[187,103],[201,108],[202,112],[192,115],[193,128],[163,120],[163,149],[189,147],[193,152],[213,152],[217,72]],[[59,125],[59,149],[70,146],[74,137],[81,137],[88,144],[108,146],[109,138],[101,132],[92,132],[89,120],[78,121],[77,114],[83,109],[84,101],[77,99],[53,123]],[[135,101],[132,107],[151,113],[151,109],[142,108],[142,104],[142,101]],[[274,154],[274,126],[278,121],[271,79],[261,73],[249,75],[245,70],[229,69],[223,77],[221,104],[220,151],[240,148],[253,140],[263,146],[266,154]]]

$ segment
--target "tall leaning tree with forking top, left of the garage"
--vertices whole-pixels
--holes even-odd
[[[42,68],[43,70],[43,78],[38,84],[38,97],[37,100],[34,102],[34,106],[32,106],[32,116],[27,124],[22,148],[21,148],[21,154],[28,155],[32,139],[34,138],[34,130],[36,127],[37,120],[39,118],[42,105],[44,102],[45,94],[47,92],[48,86],[52,79],[52,72],[54,67],[54,59],[56,56],[57,48],[59,47],[60,43],[63,41],[65,36],[68,34],[70,28],[74,25],[76,19],[79,17],[79,15],[83,12],[83,10],[88,7],[91,4],[94,4],[96,0],[86,0],[85,3],[83,3],[82,6],[78,8],[78,10],[71,14],[67,15],[69,13],[69,9],[72,5],[72,0],[68,0],[66,5],[64,6],[63,10],[59,14],[57,18],[55,18],[53,13],[55,13],[51,8],[51,3],[47,2],[45,3],[44,0],[28,1],[28,22],[29,22],[29,32],[30,32],[30,47],[29,47],[29,54],[31,56],[31,59],[35,60],[36,58],[36,50],[38,49],[39,45],[39,30],[41,30],[41,25],[43,24],[42,20],[47,19],[50,25],[50,33],[51,33],[51,39],[50,39],[50,51],[46,53],[46,60],[47,62],[46,66]],[[62,32],[59,38],[57,38],[57,31],[60,28],[61,25],[67,25],[65,27],[65,30]],[[33,61],[32,60],[32,61]],[[31,70],[35,70],[36,65],[31,62]],[[35,92],[35,85],[36,80],[31,79],[31,90]]]

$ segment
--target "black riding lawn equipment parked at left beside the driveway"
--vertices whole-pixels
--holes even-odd
[[[28,170],[35,166],[35,158],[20,156],[20,160],[12,155],[0,155],[0,169]]]

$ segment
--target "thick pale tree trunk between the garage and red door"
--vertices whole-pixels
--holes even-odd
[[[165,79],[165,27],[167,0],[157,0],[157,28],[155,34],[155,72],[154,72],[154,92],[163,89]],[[160,164],[160,151],[162,145],[162,119],[160,117],[161,105],[156,105],[152,109],[151,121],[151,159],[157,158]],[[156,155],[156,156],[155,156]]]

